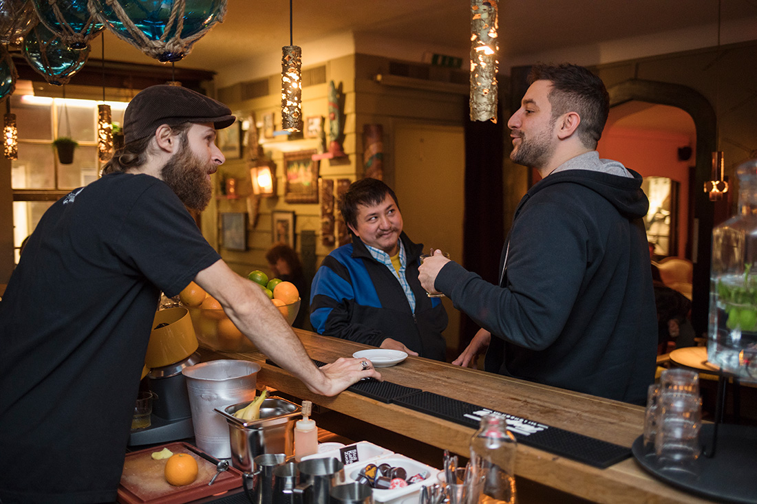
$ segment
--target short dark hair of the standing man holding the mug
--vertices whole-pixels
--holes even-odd
[[[548,80],[552,83],[549,98],[552,117],[566,112],[581,116],[578,138],[587,148],[597,148],[609,114],[610,98],[605,84],[597,75],[573,64],[536,65],[531,68],[528,83]]]

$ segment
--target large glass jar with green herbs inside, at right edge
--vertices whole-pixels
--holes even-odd
[[[757,382],[757,160],[736,174],[738,212],[712,230],[707,359]]]

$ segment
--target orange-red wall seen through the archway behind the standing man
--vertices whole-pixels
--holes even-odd
[[[618,160],[641,176],[668,177],[680,185],[678,201],[678,254],[685,257],[689,230],[689,166],[693,159],[679,160],[678,148],[693,145],[688,135],[649,129],[611,127],[602,135],[600,157]]]

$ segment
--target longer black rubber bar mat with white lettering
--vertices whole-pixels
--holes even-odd
[[[491,413],[501,415],[506,418],[507,428],[515,435],[519,443],[597,468],[609,467],[631,456],[631,448],[625,446],[565,431],[561,428],[550,427],[550,425],[540,424],[431,392],[419,392],[410,396],[398,397],[391,400],[391,403],[472,428],[478,428],[481,417],[484,415]]]

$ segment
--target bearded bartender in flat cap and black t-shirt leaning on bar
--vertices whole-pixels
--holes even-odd
[[[187,210],[210,201],[228,107],[176,86],[139,92],[101,179],[40,219],[0,303],[0,501],[115,502],[160,292],[195,281],[316,394],[373,376],[316,368],[263,291],[236,275]],[[33,470],[30,470],[33,468]]]

